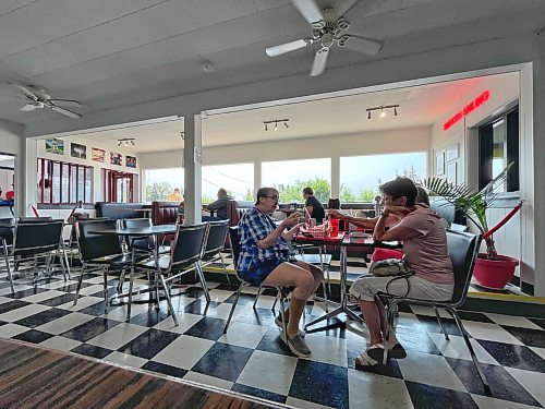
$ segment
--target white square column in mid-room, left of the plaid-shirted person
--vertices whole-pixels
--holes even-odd
[[[201,222],[203,135],[201,115],[187,115],[183,120],[184,225]]]

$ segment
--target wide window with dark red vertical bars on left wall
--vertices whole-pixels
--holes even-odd
[[[93,167],[38,158],[38,203],[93,203]]]

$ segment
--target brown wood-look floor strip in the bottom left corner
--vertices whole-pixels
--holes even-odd
[[[0,380],[2,408],[270,407],[208,386],[8,339],[0,339]]]

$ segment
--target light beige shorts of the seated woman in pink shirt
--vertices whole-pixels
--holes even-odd
[[[393,281],[392,278],[396,277],[360,276],[350,287],[350,293],[363,301],[374,301],[374,296],[378,291],[431,301],[447,301],[452,298],[453,284],[432,282],[416,276],[411,276],[408,279],[398,278]],[[388,285],[388,282],[390,284]]]

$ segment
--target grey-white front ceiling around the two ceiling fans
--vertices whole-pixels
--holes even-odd
[[[332,49],[328,67],[391,59],[545,26],[545,0],[318,3],[339,10],[355,4],[346,15],[352,24],[349,32],[385,39],[375,57]],[[315,48],[274,59],[264,50],[308,35],[307,23],[289,0],[2,0],[0,119],[26,124],[59,118],[46,109],[20,111],[23,101],[8,82],[38,84],[53,97],[78,99],[84,107],[75,110],[85,116],[305,73]],[[213,62],[213,73],[202,70],[203,59]],[[302,129],[295,121],[293,128]]]

